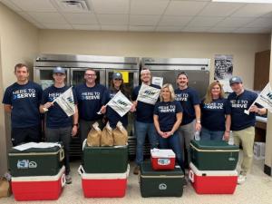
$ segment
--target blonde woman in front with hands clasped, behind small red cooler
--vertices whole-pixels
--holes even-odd
[[[175,101],[172,85],[164,84],[160,91],[160,102],[154,109],[154,125],[158,133],[160,149],[174,151],[180,168],[184,171],[180,137],[177,131],[182,120],[182,112],[180,102]]]

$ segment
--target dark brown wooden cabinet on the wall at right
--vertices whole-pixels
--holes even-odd
[[[254,90],[261,91],[269,82],[270,50],[255,53]]]

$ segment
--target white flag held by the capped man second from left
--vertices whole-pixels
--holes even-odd
[[[72,87],[63,92],[59,97],[53,100],[53,102],[57,102],[68,117],[75,113]]]

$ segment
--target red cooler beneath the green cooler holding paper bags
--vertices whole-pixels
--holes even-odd
[[[86,198],[121,198],[125,196],[130,172],[123,173],[85,173],[83,166],[78,172],[82,176],[83,194]]]

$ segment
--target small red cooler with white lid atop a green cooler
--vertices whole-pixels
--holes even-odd
[[[176,154],[172,150],[151,150],[151,166],[153,170],[174,170]]]

